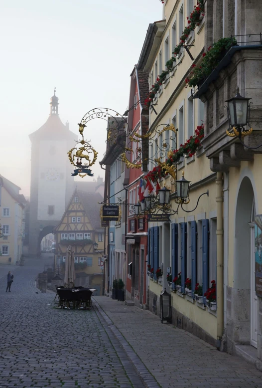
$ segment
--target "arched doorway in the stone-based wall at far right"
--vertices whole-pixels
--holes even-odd
[[[234,285],[228,325],[235,344],[257,347],[258,301],[255,293],[254,190],[248,177],[240,185],[235,219]]]

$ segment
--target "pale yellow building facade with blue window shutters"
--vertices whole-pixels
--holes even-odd
[[[188,23],[187,17],[194,11],[194,5],[197,5],[196,1],[166,1],[163,5],[163,20],[149,25],[137,67],[149,72],[150,88],[161,72],[166,70],[165,63],[172,58],[172,51],[180,42],[180,36]],[[191,57],[185,48],[181,49],[150,103],[149,171],[156,166],[156,158],[164,162],[168,152],[179,149],[190,137],[195,136],[197,127],[204,124],[203,102],[193,99],[191,89],[185,87],[185,79],[192,65],[201,63],[203,58],[204,15],[201,15],[199,25],[187,37],[186,45]],[[178,130],[176,138],[171,130],[161,133],[163,128],[170,125]],[[217,212],[219,209],[221,213],[221,201],[217,188],[221,188],[221,182],[216,182],[216,173],[210,170],[203,147],[198,147],[192,156],[181,156],[174,165],[177,169],[176,179],[181,179],[184,172],[185,179],[191,182],[190,202],[183,205],[183,210],[171,195],[172,209],[178,207],[177,213],[170,217],[171,222],[149,222],[147,263],[150,270],[153,268],[151,275],[148,271],[149,310],[160,315],[160,294],[164,289],[170,291],[172,322],[219,346],[222,336],[219,308],[223,306],[210,304],[204,296],[197,299],[194,289],[186,290],[185,281],[191,280],[191,288],[203,284],[205,292],[214,280],[219,296],[221,281],[218,285]],[[160,186],[165,184],[171,190],[174,190],[173,181],[169,175],[158,180]],[[196,209],[190,211],[197,205],[199,196],[207,191],[209,196],[203,195]],[[156,267],[162,272],[158,279],[155,276]],[[167,275],[170,274],[173,280],[180,273],[182,288],[176,289],[173,281],[168,282]]]

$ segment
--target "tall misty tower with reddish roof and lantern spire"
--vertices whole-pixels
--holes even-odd
[[[61,220],[74,191],[72,166],[67,152],[78,136],[69,131],[68,122],[64,125],[60,120],[55,93],[54,89],[47,121],[29,135],[31,188],[28,253],[34,257],[39,254],[41,239],[51,233]]]

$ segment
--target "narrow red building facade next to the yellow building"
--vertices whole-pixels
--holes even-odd
[[[148,108],[144,100],[148,94],[148,74],[137,70],[135,66],[131,73],[131,88],[129,100],[128,125],[132,137],[137,142],[129,142],[131,148],[130,161],[141,164],[140,152],[147,152],[147,144],[143,144],[137,135],[144,135],[148,130]],[[133,107],[133,109],[131,109]],[[144,159],[144,157],[143,157]],[[138,190],[140,178],[147,172],[147,165],[141,168],[126,169],[125,184],[128,190],[128,233],[127,233],[127,279],[126,299],[132,300],[136,306],[146,308],[147,305],[147,221],[145,218],[136,218],[131,204],[139,200]]]

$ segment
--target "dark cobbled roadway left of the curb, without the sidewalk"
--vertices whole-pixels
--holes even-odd
[[[0,280],[0,388],[145,387],[96,308],[58,310],[35,288],[43,263],[16,268],[11,292]]]

